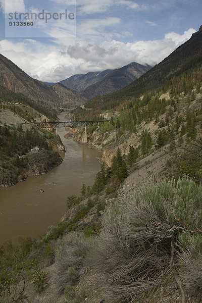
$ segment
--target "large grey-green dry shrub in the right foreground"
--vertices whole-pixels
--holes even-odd
[[[186,179],[151,182],[135,189],[127,184],[119,190],[117,203],[102,217],[102,232],[88,260],[109,300],[139,302],[143,293],[165,282],[171,270],[171,238],[182,233],[170,232],[179,225],[174,214],[192,224],[190,228],[201,223],[200,216],[195,216],[201,192],[201,187]],[[176,253],[179,250],[176,247]]]

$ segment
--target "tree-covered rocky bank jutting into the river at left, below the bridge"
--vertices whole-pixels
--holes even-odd
[[[23,129],[24,128],[24,129]],[[62,163],[65,147],[59,135],[36,126],[19,124],[0,129],[0,186],[13,186],[29,176],[39,176]]]

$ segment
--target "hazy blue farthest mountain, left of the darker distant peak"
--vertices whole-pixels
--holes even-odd
[[[85,88],[87,88],[89,85],[95,84],[99,80],[103,79],[105,76],[107,76],[112,70],[108,69],[103,72],[89,72],[85,75],[79,74],[74,75],[66,80],[62,80],[59,83],[62,83],[66,87],[70,89],[74,89],[77,92],[81,92]]]

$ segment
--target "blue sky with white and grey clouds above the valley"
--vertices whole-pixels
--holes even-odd
[[[198,30],[201,11],[201,0],[0,0],[0,53],[44,82],[154,66]]]

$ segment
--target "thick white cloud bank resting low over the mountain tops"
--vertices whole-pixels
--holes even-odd
[[[195,32],[190,28],[182,35],[171,32],[163,40],[134,41],[117,40],[100,44],[84,40],[55,40],[57,43],[25,39],[23,42],[2,40],[0,53],[12,60],[30,76],[46,82],[58,82],[74,74],[89,71],[115,69],[138,62],[155,65],[167,57],[176,47]],[[55,33],[57,35],[57,33]]]

